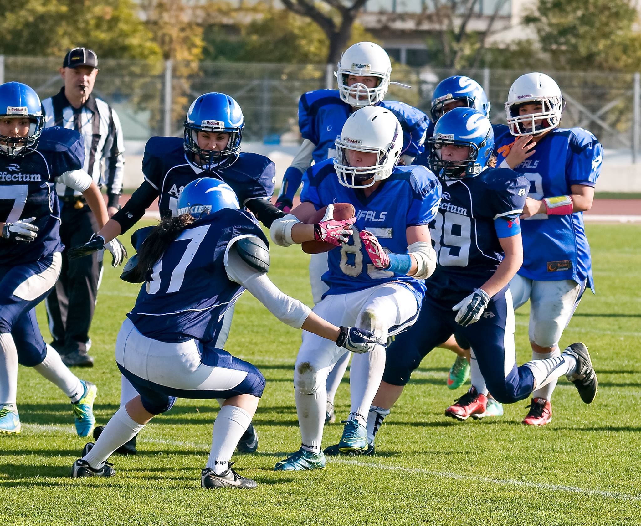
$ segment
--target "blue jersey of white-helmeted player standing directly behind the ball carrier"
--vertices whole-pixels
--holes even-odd
[[[416,157],[422,153],[429,119],[422,111],[396,101],[381,101],[379,106],[396,115],[403,130],[401,154]],[[298,126],[303,139],[311,140],[316,148],[312,157],[319,163],[336,157],[334,141],[340,135],[352,107],[342,101],[338,90],[315,90],[301,95],[298,103]]]

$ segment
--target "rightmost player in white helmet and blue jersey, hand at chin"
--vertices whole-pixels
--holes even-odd
[[[583,128],[559,127],[561,90],[544,73],[517,78],[505,109],[508,124],[502,126],[496,148],[506,157],[503,165],[530,183],[521,216],[524,261],[510,289],[515,309],[530,300],[532,358],[556,358],[583,291],[590,287],[594,292],[583,212],[592,206],[603,148]],[[524,424],[551,420],[555,386],[553,381],[532,393]]]

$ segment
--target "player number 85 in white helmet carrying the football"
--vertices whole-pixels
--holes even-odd
[[[367,448],[365,423],[385,366],[384,344],[414,323],[423,280],[435,268],[428,223],[438,208],[440,183],[423,166],[398,165],[402,144],[401,123],[393,112],[381,106],[357,110],[335,140],[337,157],[306,171],[301,205],[271,227],[272,240],[282,246],[322,235],[336,245],[328,252],[329,268],[322,276],[328,291],[313,310],[332,323],[372,330],[381,343],[367,355],[354,356],[351,409],[337,446],[342,452]],[[340,202],[354,205],[353,219],[335,221],[329,231],[304,223],[320,208]],[[380,241],[378,266],[368,263],[374,235]],[[294,369],[302,444],[276,470],[324,468],[320,445],[326,379],[342,354],[335,344],[303,332]]]

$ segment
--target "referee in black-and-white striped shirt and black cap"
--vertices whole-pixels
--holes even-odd
[[[65,85],[42,101],[45,126],[77,130],[85,142],[84,169],[101,187],[107,187],[107,210],[112,217],[119,210],[122,192],[124,141],[121,123],[113,108],[92,95],[98,57],[91,49],[76,47],[65,55],[60,75]],[[104,162],[103,162],[104,161]],[[56,185],[60,199],[60,237],[67,247],[87,242],[98,231],[96,217],[80,194],[62,183]],[[51,345],[67,366],[92,367],[87,353],[91,346],[89,327],[96,307],[96,295],[103,273],[103,251],[69,260],[62,253],[62,272],[46,299]]]

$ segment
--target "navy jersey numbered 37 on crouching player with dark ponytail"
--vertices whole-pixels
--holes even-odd
[[[232,208],[188,226],[147,276],[129,319],[156,340],[215,342],[224,312],[244,291],[227,276],[228,246],[248,235],[268,244],[253,216]]]

